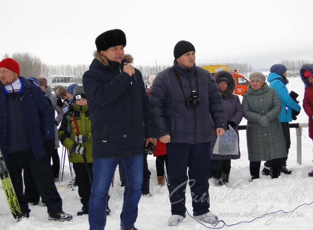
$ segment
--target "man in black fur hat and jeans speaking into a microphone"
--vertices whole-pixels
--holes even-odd
[[[136,230],[144,149],[149,142],[156,144],[157,136],[149,98],[141,72],[129,64],[132,56],[124,55],[124,32],[120,29],[105,31],[96,38],[95,44],[95,59],[83,75],[93,140],[90,230],[105,227],[106,194],[119,161],[126,185],[121,230]],[[126,64],[121,65],[124,58]]]

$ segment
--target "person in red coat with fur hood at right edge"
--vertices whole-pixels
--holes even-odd
[[[300,68],[300,77],[305,85],[303,109],[309,116],[309,137],[313,139],[313,65],[302,65]],[[313,176],[313,170],[308,175]]]

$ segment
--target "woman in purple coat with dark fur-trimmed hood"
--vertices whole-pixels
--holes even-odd
[[[238,125],[241,122],[244,111],[242,109],[239,97],[233,92],[235,91],[235,79],[233,75],[228,71],[218,71],[214,78],[219,87],[219,92],[223,97],[223,106],[227,113],[227,126],[231,126],[238,135],[239,145],[239,133]],[[216,142],[217,136],[214,133],[214,137],[211,141],[211,175],[213,176],[214,185],[221,186],[228,182],[230,172],[230,160],[240,158],[240,150],[238,155],[219,155],[213,154],[213,147]]]

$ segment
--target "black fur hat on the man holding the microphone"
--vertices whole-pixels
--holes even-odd
[[[116,45],[123,45],[125,47],[126,35],[120,29],[108,30],[96,38],[95,44],[98,52],[100,52],[100,50],[107,50]]]

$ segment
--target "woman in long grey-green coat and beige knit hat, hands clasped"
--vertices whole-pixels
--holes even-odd
[[[242,107],[247,119],[247,146],[251,180],[259,178],[261,160],[270,160],[272,178],[281,170],[281,158],[286,157],[283,130],[278,119],[281,102],[275,89],[269,88],[265,76],[254,72],[244,93]]]

